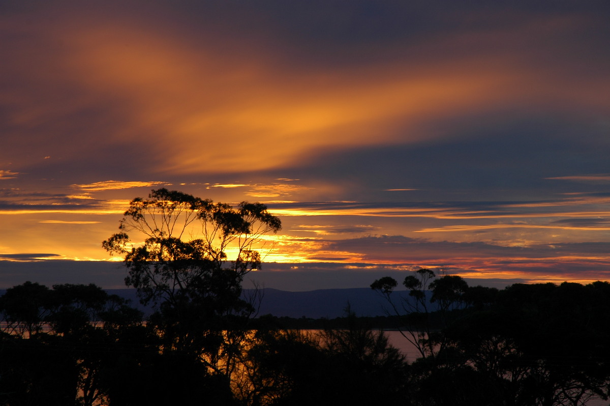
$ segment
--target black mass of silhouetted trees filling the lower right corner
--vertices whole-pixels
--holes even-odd
[[[516,284],[498,290],[420,269],[403,281],[409,300],[395,297],[397,285],[386,277],[371,288],[401,316],[405,338],[420,352],[409,366],[411,404],[608,400],[610,283]]]

